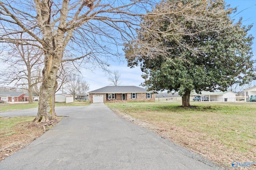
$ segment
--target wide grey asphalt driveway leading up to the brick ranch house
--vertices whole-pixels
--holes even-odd
[[[69,113],[69,117],[0,162],[0,170],[220,169],[126,121],[102,103],[79,107],[79,111],[68,110],[58,115]]]

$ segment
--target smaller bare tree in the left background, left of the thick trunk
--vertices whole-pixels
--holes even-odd
[[[17,39],[22,39],[22,34]],[[2,46],[2,48],[9,48],[10,50],[6,57],[1,59],[6,69],[0,73],[0,83],[13,85],[13,88],[27,90],[29,104],[32,104],[33,87],[40,80],[43,51],[38,47],[23,45],[22,43],[7,43],[6,45]]]

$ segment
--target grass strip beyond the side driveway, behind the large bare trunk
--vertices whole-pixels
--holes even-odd
[[[72,102],[72,103],[56,103],[55,107],[59,106],[86,106],[89,105],[88,102]],[[0,104],[1,111],[19,110],[19,109],[30,109],[38,107],[38,102],[33,104]]]

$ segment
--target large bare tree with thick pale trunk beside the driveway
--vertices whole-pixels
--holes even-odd
[[[55,119],[56,76],[63,61],[76,60],[106,68],[138,27],[149,0],[2,0],[0,42],[34,45],[44,51],[38,113],[34,121]],[[29,11],[29,12],[28,12]],[[9,35],[23,33],[22,39]],[[29,37],[32,37],[29,38]],[[72,58],[64,58],[64,52]]]

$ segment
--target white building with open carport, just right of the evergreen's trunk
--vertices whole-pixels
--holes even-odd
[[[196,96],[207,97],[209,101],[217,101],[217,102],[236,102],[236,93],[227,91],[227,92],[206,92],[202,91],[202,94],[197,94],[196,92],[192,92],[190,94],[190,100],[193,100]]]

